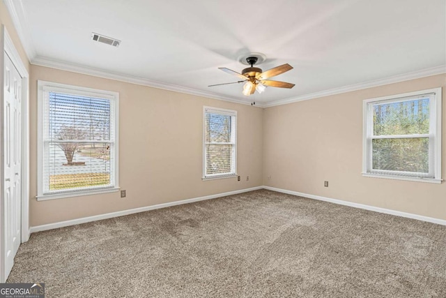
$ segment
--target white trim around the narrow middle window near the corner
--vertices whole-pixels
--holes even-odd
[[[225,114],[231,117],[235,117],[233,121],[233,129],[231,129],[231,133],[234,135],[234,156],[233,156],[233,167],[234,172],[230,174],[211,174],[206,176],[206,112],[215,112],[215,114]],[[232,118],[231,118],[232,119]],[[232,143],[231,143],[232,144]],[[215,180],[215,179],[226,179],[237,177],[237,111],[236,110],[226,110],[220,107],[208,107],[203,106],[203,172],[201,179],[203,181],[206,180]]]

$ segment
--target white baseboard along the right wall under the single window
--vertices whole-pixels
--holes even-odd
[[[401,217],[406,217],[406,218],[417,219],[418,221],[427,221],[429,223],[436,223],[438,225],[446,225],[446,221],[443,219],[439,219],[439,218],[422,216],[422,215],[418,215],[418,214],[411,214],[411,213],[396,211],[396,210],[392,210],[392,209],[374,207],[374,206],[370,206],[370,205],[347,202],[347,201],[337,200],[337,199],[332,199],[332,198],[325,198],[325,197],[321,197],[320,195],[309,195],[308,193],[299,193],[297,191],[288,191],[288,190],[282,189],[282,188],[275,188],[275,187],[270,187],[270,186],[263,186],[263,188],[268,189],[269,191],[277,191],[279,193],[286,193],[289,195],[298,195],[299,197],[320,200],[320,201],[325,201],[325,202],[330,202],[330,203],[334,203],[334,204],[340,204],[340,205],[355,207],[355,208],[360,208],[360,209],[366,209],[366,210],[376,211],[376,212],[380,212],[380,213],[384,213],[384,214],[391,214],[391,215],[396,215],[396,216],[401,216]]]

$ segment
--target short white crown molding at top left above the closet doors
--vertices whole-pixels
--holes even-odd
[[[33,40],[29,33],[29,26],[26,22],[22,0],[3,0],[3,3],[5,3],[6,8],[8,8],[8,13],[11,20],[13,20],[15,31],[17,31],[17,35],[26,52],[26,56],[31,62],[33,58],[36,57],[36,49],[34,49]]]

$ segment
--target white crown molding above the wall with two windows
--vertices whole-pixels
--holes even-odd
[[[148,79],[144,79],[142,77],[134,77],[131,75],[122,75],[119,73],[112,73],[108,70],[103,70],[100,68],[93,68],[93,67],[89,67],[89,66],[83,66],[80,64],[71,64],[71,63],[68,63],[65,61],[59,61],[59,60],[50,59],[47,57],[39,57],[38,56],[38,57],[32,59],[31,64],[38,65],[38,66],[45,66],[45,67],[49,67],[49,68],[56,68],[56,69],[60,69],[60,70],[67,70],[67,71],[71,71],[73,73],[82,73],[84,75],[93,75],[95,77],[104,77],[104,78],[110,79],[110,80],[128,82],[128,83],[132,83],[132,84],[138,84],[138,85],[153,87],[153,88],[157,88],[157,89],[176,91],[176,92],[180,92],[183,94],[191,94],[194,96],[214,98],[214,99],[218,99],[218,100],[229,101],[231,103],[239,103],[241,105],[251,105],[250,102],[243,101],[239,98],[232,98],[229,96],[221,96],[219,94],[213,94],[211,92],[200,91],[197,89],[181,87],[178,85],[167,84],[167,83],[158,82],[158,81],[154,81],[154,80],[148,80]],[[256,104],[255,107],[263,107],[263,106]]]

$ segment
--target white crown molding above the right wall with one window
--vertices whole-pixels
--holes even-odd
[[[270,103],[263,104],[263,107],[274,107],[275,105],[286,105],[288,103],[295,103],[302,100],[309,100],[314,98],[321,98],[324,96],[331,96],[335,94],[343,94],[346,92],[357,91],[361,89],[367,89],[372,87],[383,86],[387,84],[393,84],[397,82],[403,82],[408,80],[415,80],[421,77],[429,77],[431,75],[440,75],[446,73],[446,65],[436,66],[432,68],[426,68],[422,70],[417,70],[412,73],[405,73],[403,75],[394,75],[392,77],[385,77],[380,80],[373,80],[369,82],[362,82],[358,84],[348,85],[344,87],[328,89],[324,91],[318,91],[312,94],[305,94],[302,96],[297,96],[293,98],[285,98],[281,100],[275,100]]]

